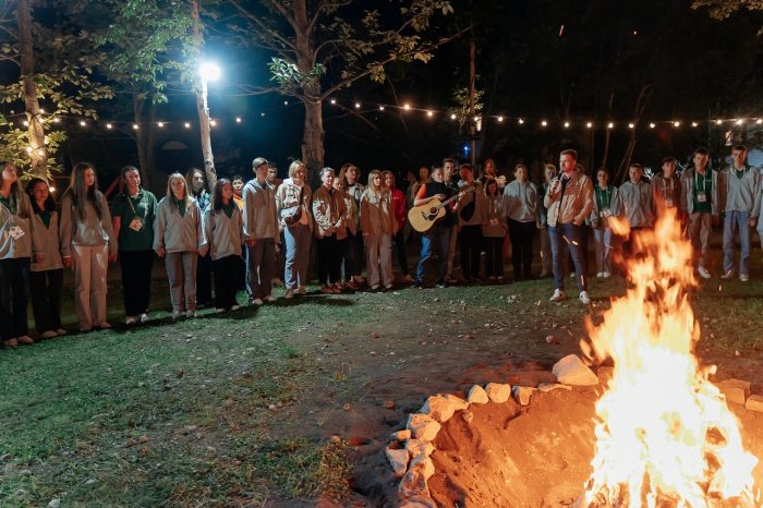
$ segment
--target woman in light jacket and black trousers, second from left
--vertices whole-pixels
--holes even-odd
[[[61,327],[63,261],[59,244],[59,215],[48,182],[33,178],[26,184],[32,203],[32,273],[29,290],[35,327],[41,339],[66,335]]]

